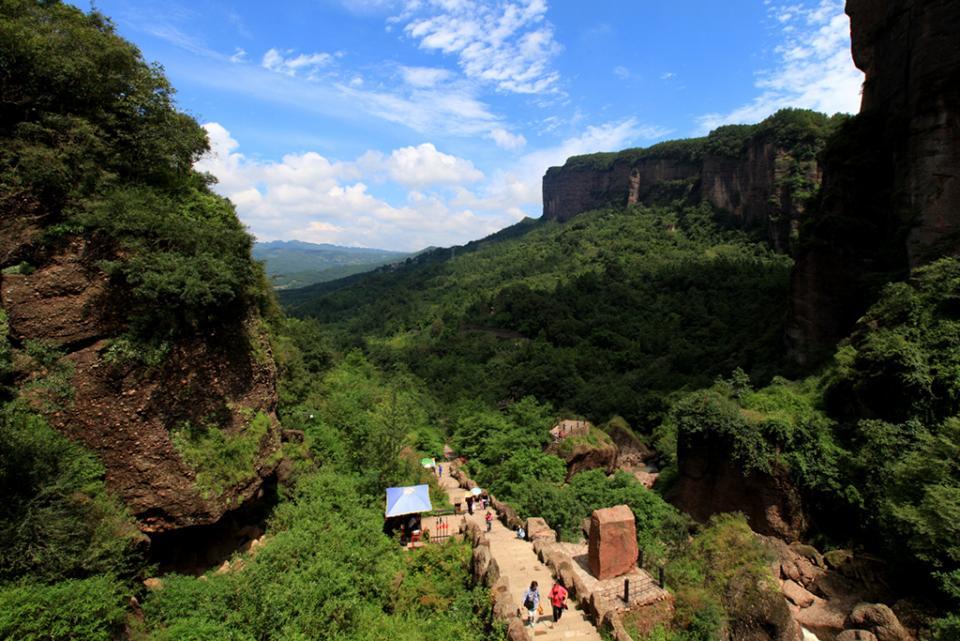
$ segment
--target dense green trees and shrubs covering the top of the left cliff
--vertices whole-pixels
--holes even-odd
[[[12,0],[2,15],[0,215],[43,229],[19,259],[78,234],[103,241],[118,310],[147,339],[261,300],[249,235],[193,169],[206,134],[160,68],[99,13]]]

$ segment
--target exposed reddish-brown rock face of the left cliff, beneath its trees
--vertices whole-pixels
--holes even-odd
[[[0,222],[4,266],[29,249],[37,222],[29,217]],[[0,302],[14,346],[43,341],[66,354],[61,364],[70,372],[69,397],[38,407],[54,427],[101,458],[108,487],[143,531],[216,522],[253,497],[278,462],[269,342],[251,312],[171,344],[158,365],[112,361],[107,353],[124,329],[118,318],[123,300],[97,267],[106,257],[102,252],[96,242],[76,238],[44,256],[34,272],[0,276]],[[216,492],[198,488],[197,471],[181,459],[171,428],[184,421],[213,422],[228,435],[238,434],[256,412],[265,413],[271,426],[246,478]]]

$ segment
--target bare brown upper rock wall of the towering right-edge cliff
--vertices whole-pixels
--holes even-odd
[[[866,74],[862,113],[892,142],[894,207],[912,222],[911,266],[960,251],[960,5],[849,0],[853,58]]]

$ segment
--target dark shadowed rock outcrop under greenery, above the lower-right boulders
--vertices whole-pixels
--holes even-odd
[[[681,437],[679,473],[667,498],[698,521],[722,512],[742,512],[751,529],[795,541],[807,528],[799,492],[780,470],[744,476],[730,448],[716,438]]]

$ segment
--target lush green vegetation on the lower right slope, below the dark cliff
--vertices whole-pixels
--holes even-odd
[[[956,599],[958,302],[960,261],[917,269],[883,290],[822,373],[756,390],[742,375],[718,381],[674,406],[659,445],[709,436],[746,473],[786,469],[822,535],[884,550]]]

